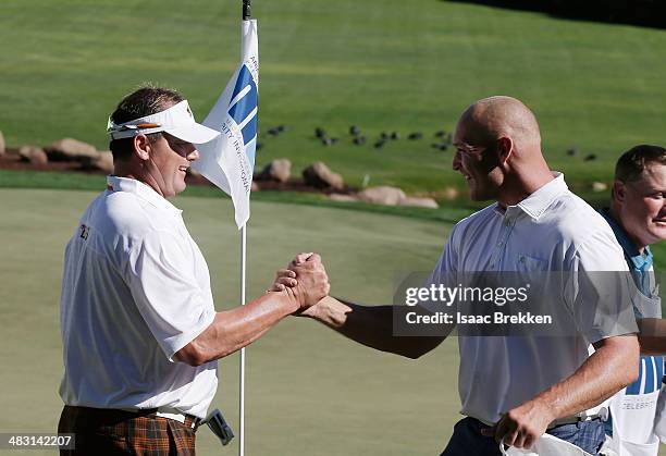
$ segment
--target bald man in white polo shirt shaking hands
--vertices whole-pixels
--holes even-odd
[[[471,199],[496,202],[454,226],[434,281],[461,271],[627,270],[608,224],[548,169],[539,124],[522,102],[509,97],[476,102],[460,116],[454,145],[453,168],[465,176]],[[283,271],[274,287],[294,286],[297,279]],[[578,285],[570,295],[556,293],[560,300],[554,304],[581,315],[604,295]],[[326,297],[303,316],[409,358],[445,338],[395,336],[393,310]],[[498,442],[527,448],[544,432],[597,454],[604,409],[596,406],[638,375],[633,315],[619,318],[625,320],[592,316],[593,328],[579,322],[580,329],[559,337],[460,335],[458,389],[466,418],[442,454],[499,455]]]

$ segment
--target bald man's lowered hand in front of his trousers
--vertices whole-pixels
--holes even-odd
[[[530,448],[554,419],[552,407],[534,399],[509,410],[495,426],[482,429],[481,433],[508,446]]]

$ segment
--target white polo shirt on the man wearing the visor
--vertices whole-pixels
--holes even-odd
[[[108,184],[65,250],[60,395],[73,406],[205,418],[217,361],[192,367],[173,355],[215,316],[206,260],[181,210],[138,181]]]

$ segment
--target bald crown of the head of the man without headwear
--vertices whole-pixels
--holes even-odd
[[[541,147],[536,118],[522,101],[511,97],[496,96],[477,101],[460,115],[458,124],[481,143],[505,136],[513,139],[518,150]]]

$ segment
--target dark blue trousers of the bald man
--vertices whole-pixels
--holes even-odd
[[[488,428],[474,418],[465,418],[454,427],[454,434],[441,456],[485,456],[499,453],[499,444],[493,437],[481,435]],[[591,455],[597,455],[605,440],[604,423],[601,419],[580,421],[575,424],[562,424],[548,429],[547,433],[572,443]]]

